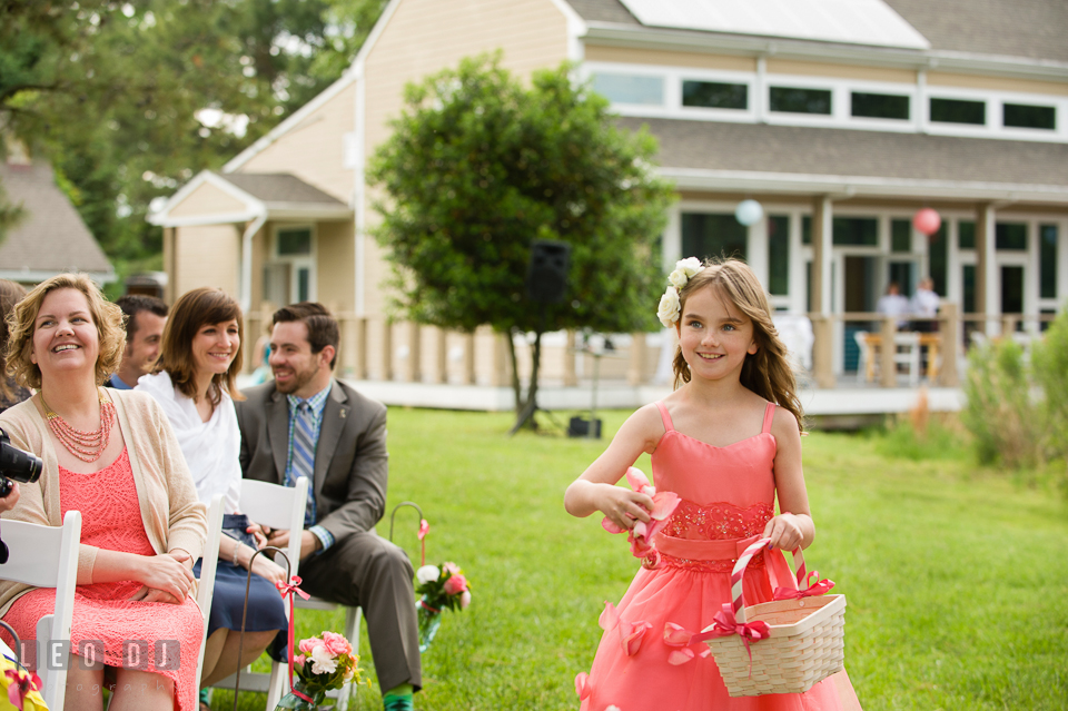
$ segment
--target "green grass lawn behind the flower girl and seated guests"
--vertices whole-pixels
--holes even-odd
[[[603,413],[614,433],[626,413]],[[605,600],[636,561],[600,516],[563,510],[564,488],[606,441],[520,434],[506,414],[392,408],[387,511],[414,501],[427,562],[455,561],[474,602],[445,613],[424,655],[424,711],[573,709]],[[817,523],[810,567],[847,595],[846,664],[867,711],[1068,709],[1068,504],[959,451],[914,461],[882,435],[804,441]],[[647,457],[639,462],[646,473]],[[378,526],[388,535],[387,520]],[[395,540],[418,565],[416,515]],[[297,612],[297,634],[340,631],[340,613]],[[374,679],[366,633],[362,666]],[[260,662],[261,664],[263,662]],[[359,709],[380,709],[377,687]],[[215,709],[231,708],[217,692]],[[264,697],[243,694],[241,709]]]

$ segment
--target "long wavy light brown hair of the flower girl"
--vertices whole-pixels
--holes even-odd
[[[705,260],[704,268],[690,277],[679,292],[680,318],[690,295],[704,288],[715,289],[753,322],[758,348],[756,353],[746,355],[742,364],[742,385],[792,413],[798,419],[798,428],[804,433],[804,411],[798,398],[798,382],[787,357],[787,347],[779,339],[779,332],[771,320],[771,308],[760,279],[749,265],[739,259]],[[672,365],[675,388],[689,383],[690,364],[682,357],[681,347],[675,350]]]

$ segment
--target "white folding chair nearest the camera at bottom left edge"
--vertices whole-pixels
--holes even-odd
[[[55,660],[60,663],[53,663],[49,648],[51,642],[70,643],[81,512],[68,511],[63,525],[59,527],[8,520],[3,521],[2,527],[10,556],[0,565],[0,579],[56,589],[52,614],[44,615],[37,623],[37,674],[44,684],[44,703],[49,709],[62,709],[67,694],[67,660]]]

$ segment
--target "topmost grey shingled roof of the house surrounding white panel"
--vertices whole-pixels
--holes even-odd
[[[639,30],[642,22],[620,0],[566,0],[594,26]],[[675,3],[679,0],[660,0]],[[694,0],[683,0],[693,2]],[[705,0],[733,2],[734,0]],[[883,0],[929,42],[923,53],[969,55],[1068,62],[1068,2],[1064,0]],[[654,29],[652,27],[645,29]],[[696,31],[676,30],[676,32]],[[714,37],[716,32],[704,32]],[[723,37],[730,37],[722,32]]]

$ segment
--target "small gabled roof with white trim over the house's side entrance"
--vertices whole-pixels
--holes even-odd
[[[164,227],[269,219],[348,219],[353,210],[288,172],[205,170],[175,192],[148,221]]]

